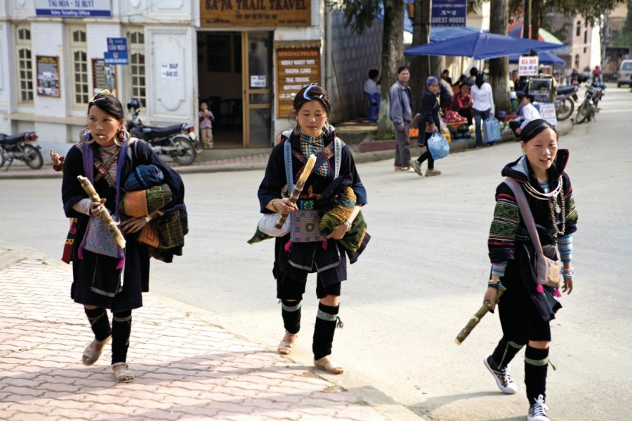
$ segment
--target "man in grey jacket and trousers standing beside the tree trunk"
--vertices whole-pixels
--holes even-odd
[[[408,67],[397,68],[397,82],[388,90],[390,98],[390,121],[396,130],[395,171],[408,171],[410,163],[410,139],[408,131],[412,122],[412,93],[408,86]]]

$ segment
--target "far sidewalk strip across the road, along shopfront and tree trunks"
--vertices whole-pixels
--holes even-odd
[[[560,136],[572,131],[572,123],[569,120],[560,121],[557,129]],[[375,131],[375,124],[347,123],[341,126],[340,137],[347,142],[347,146],[353,154],[356,163],[382,161],[394,159],[395,140],[369,140],[371,131]],[[500,142],[515,142],[513,132],[506,129],[502,133]],[[450,144],[450,153],[465,152],[474,149],[475,139],[458,140]],[[418,156],[420,150],[416,139],[411,139],[411,152]],[[47,151],[43,151],[47,153]],[[174,165],[169,159],[166,162],[181,174],[187,173],[217,173],[220,171],[263,171],[268,164],[270,148],[238,148],[238,149],[206,149],[200,152],[190,166]],[[6,165],[6,164],[5,164]],[[20,178],[61,178],[60,172],[53,171],[50,164],[44,164],[39,170],[32,170],[21,162],[14,162],[8,171],[6,167],[0,168],[0,180]]]

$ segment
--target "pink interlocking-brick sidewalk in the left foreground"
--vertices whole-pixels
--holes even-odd
[[[0,420],[419,420],[151,293],[133,312],[136,379],[117,383],[109,345],[81,364],[93,337],[71,280],[70,266],[0,243]]]

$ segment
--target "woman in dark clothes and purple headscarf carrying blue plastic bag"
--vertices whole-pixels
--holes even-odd
[[[439,119],[439,101],[437,101],[439,89],[439,79],[435,76],[428,76],[428,79],[426,79],[426,88],[421,94],[421,107],[419,107],[419,114],[421,115],[421,122],[419,123],[419,138],[421,138],[421,131],[423,130],[423,142],[419,142],[419,146],[426,146],[430,136],[432,136],[433,133],[438,132],[441,127],[441,121]],[[410,160],[410,165],[414,169],[415,173],[423,176],[421,163],[426,161],[426,159],[428,159],[426,177],[441,175],[441,171],[435,170],[435,160],[427,147],[426,152],[423,152],[419,158]]]

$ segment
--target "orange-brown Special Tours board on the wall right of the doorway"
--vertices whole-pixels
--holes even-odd
[[[292,114],[293,94],[320,83],[320,48],[279,48],[277,58],[277,118]]]

